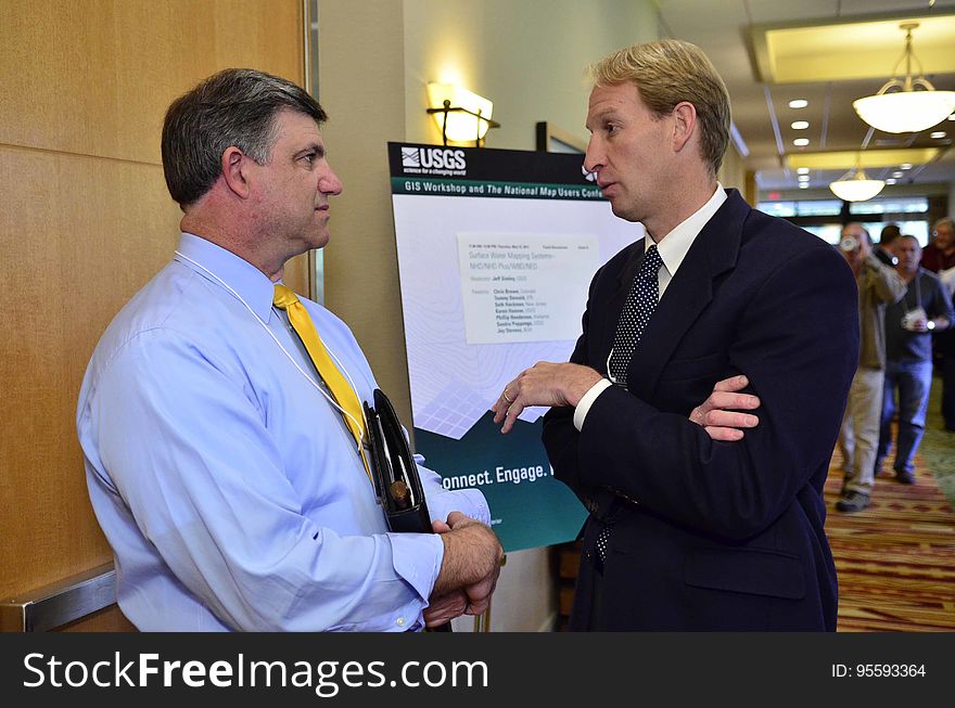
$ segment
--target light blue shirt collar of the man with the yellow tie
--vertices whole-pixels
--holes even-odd
[[[272,308],[275,283],[258,268],[212,241],[182,232],[175,260],[226,292],[234,291],[263,321]]]

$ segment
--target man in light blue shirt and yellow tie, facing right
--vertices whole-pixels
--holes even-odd
[[[169,107],[171,262],[116,316],[77,430],[119,606],[148,631],[406,631],[487,606],[501,549],[476,490],[420,466],[440,533],[391,533],[355,439],[272,306],[284,263],[328,243],[322,108],[227,69]],[[377,388],[348,327],[302,298],[359,400]]]

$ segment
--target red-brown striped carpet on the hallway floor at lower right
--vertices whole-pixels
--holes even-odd
[[[955,512],[921,456],[915,485],[883,473],[862,512],[835,510],[841,486],[837,451],[826,532],[839,574],[839,631],[955,630]]]

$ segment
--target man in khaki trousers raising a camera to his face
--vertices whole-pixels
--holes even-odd
[[[905,282],[873,253],[869,232],[861,223],[842,229],[839,249],[858,286],[858,369],[852,377],[839,449],[842,451],[842,492],[836,509],[858,512],[869,505],[875,486],[876,447],[886,371],[886,306],[905,294]]]

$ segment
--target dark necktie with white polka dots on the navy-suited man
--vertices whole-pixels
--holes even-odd
[[[660,266],[663,261],[657,252],[657,245],[652,245],[644,255],[640,263],[640,272],[634,279],[634,286],[627,294],[623,311],[620,313],[620,322],[616,323],[616,334],[613,336],[613,350],[610,355],[610,376],[621,385],[626,385],[626,370],[631,358],[640,344],[644,327],[650,321],[650,316],[657,309],[660,299],[660,284],[658,282]],[[607,559],[607,541],[610,538],[612,526],[604,526],[597,537],[597,556],[601,566]]]

